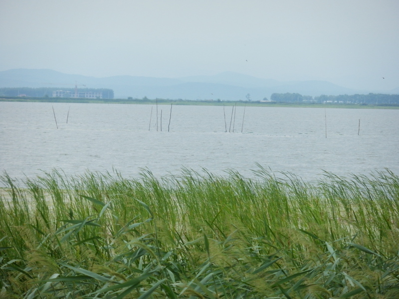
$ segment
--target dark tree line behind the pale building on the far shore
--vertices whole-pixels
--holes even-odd
[[[75,93],[75,88],[60,87],[3,87],[0,88],[0,97],[27,97],[27,98],[47,98],[52,97],[53,91],[63,90]],[[102,92],[103,99],[113,99],[114,91],[107,88],[79,88],[78,92]]]

